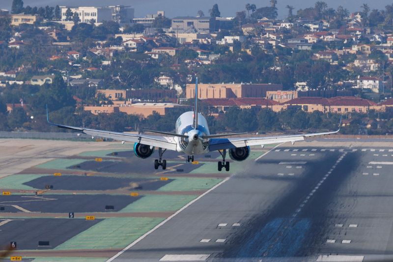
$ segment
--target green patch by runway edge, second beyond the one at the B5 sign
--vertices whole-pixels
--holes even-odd
[[[158,191],[192,191],[210,189],[216,184],[223,181],[220,178],[198,178],[198,177],[179,177]]]

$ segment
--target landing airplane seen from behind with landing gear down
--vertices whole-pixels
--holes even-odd
[[[228,151],[229,157],[234,161],[244,161],[250,155],[250,146],[264,146],[267,144],[276,144],[291,142],[294,144],[297,141],[304,141],[305,138],[315,136],[332,135],[339,132],[324,132],[311,133],[299,135],[281,135],[271,137],[248,137],[248,138],[225,138],[234,135],[244,135],[247,133],[229,133],[229,134],[215,134],[211,135],[207,125],[206,118],[198,113],[198,79],[195,84],[195,107],[194,111],[183,113],[177,118],[175,123],[175,133],[144,130],[161,134],[164,136],[152,136],[144,134],[125,134],[121,132],[112,132],[105,130],[96,130],[84,127],[68,126],[52,123],[49,121],[48,107],[47,107],[47,121],[49,124],[76,130],[94,137],[111,138],[113,140],[134,143],[134,153],[137,157],[142,159],[150,157],[155,147],[158,147],[159,159],[154,160],[154,168],[158,169],[160,166],[163,170],[167,168],[167,161],[163,158],[166,150],[174,150],[183,152],[187,155],[187,162],[194,162],[194,156],[204,154],[206,152],[218,151],[223,160],[218,161],[218,171],[225,168],[229,171],[229,162],[225,161],[226,153]]]

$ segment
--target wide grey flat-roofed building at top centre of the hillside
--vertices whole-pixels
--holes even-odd
[[[171,28],[175,32],[199,32],[208,33],[214,26],[214,18],[178,16],[172,19]]]

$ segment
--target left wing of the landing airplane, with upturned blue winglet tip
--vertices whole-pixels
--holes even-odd
[[[48,119],[49,122],[49,119]],[[55,125],[60,128],[66,128],[71,130],[77,130],[87,135],[91,135],[92,137],[103,137],[103,138],[112,138],[118,141],[127,141],[140,143],[148,146],[157,146],[161,148],[166,148],[170,150],[176,150],[176,141],[173,137],[163,137],[163,136],[148,136],[148,135],[140,135],[140,134],[125,134],[121,132],[111,132],[90,128],[83,128],[77,126],[68,126],[68,125],[59,125],[55,123],[49,122],[51,125]]]

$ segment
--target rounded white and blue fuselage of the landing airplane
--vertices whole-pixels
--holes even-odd
[[[177,151],[187,155],[198,155],[209,151],[209,139],[202,136],[210,135],[209,127],[204,116],[198,113],[198,126],[194,127],[194,111],[189,111],[177,118],[176,134],[186,135],[188,138],[176,137]]]

